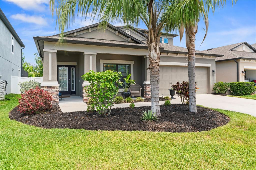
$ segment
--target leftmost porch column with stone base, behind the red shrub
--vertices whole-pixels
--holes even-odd
[[[51,104],[59,104],[59,83],[57,80],[57,50],[43,49],[44,70],[41,89],[48,91],[52,96]]]

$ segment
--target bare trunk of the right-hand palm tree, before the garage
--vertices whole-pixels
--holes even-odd
[[[189,111],[197,113],[196,109],[196,50],[195,39],[197,24],[186,27],[186,46],[188,49],[188,92],[189,92]]]

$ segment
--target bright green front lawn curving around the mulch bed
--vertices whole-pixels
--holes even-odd
[[[42,129],[10,120],[19,95],[0,102],[0,169],[255,169],[256,118],[230,117],[203,132]]]

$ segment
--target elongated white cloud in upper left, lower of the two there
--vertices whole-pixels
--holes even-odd
[[[34,23],[36,25],[47,25],[46,19],[40,16],[30,16],[27,14],[15,14],[15,15],[11,15],[11,18],[17,19],[23,22]]]

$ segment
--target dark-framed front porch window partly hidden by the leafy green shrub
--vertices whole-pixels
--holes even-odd
[[[122,77],[120,81],[124,83],[125,83],[124,78],[126,78],[126,76],[130,74],[130,70],[131,70],[130,68],[131,68],[130,64],[103,64],[103,71],[113,70],[113,71],[121,72]],[[123,86],[124,85],[125,84],[123,84]],[[119,86],[119,88],[120,87],[122,86]]]

